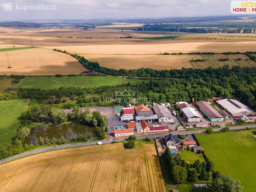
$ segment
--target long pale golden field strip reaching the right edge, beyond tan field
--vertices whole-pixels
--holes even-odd
[[[200,42],[202,40],[138,40],[140,42],[147,42],[148,44],[113,44],[113,45],[84,45],[84,46],[58,46],[48,47],[50,49],[66,50],[69,53],[77,54],[96,54],[96,55],[121,55],[121,54],[159,54],[159,53],[191,53],[191,52],[246,52],[248,50],[255,49],[254,41],[230,41],[222,42],[221,40],[215,40],[206,42]],[[160,44],[152,44],[152,42],[159,42]],[[165,41],[165,43],[161,43]],[[173,43],[171,42],[173,41]],[[176,42],[176,43],[175,43]]]

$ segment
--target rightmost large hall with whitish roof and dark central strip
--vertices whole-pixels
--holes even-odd
[[[222,99],[216,102],[222,109],[226,108],[227,112],[232,116],[256,115],[255,111],[234,99]]]

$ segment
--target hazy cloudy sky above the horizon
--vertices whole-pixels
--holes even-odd
[[[161,18],[231,15],[229,0],[0,0],[0,20]],[[2,4],[12,3],[12,10]],[[57,10],[25,10],[43,4]],[[52,6],[53,5],[53,6]],[[7,5],[6,5],[7,6]],[[52,6],[52,7],[51,7]],[[31,9],[31,8],[30,8]],[[36,9],[36,7],[34,7]]]

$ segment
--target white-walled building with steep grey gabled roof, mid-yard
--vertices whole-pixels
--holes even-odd
[[[155,104],[153,106],[155,114],[158,118],[158,123],[173,123],[174,117],[171,115],[171,112],[167,109],[167,107]]]

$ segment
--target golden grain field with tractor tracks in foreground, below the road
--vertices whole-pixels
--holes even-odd
[[[0,170],[4,191],[165,191],[155,145],[142,141],[32,155]]]

